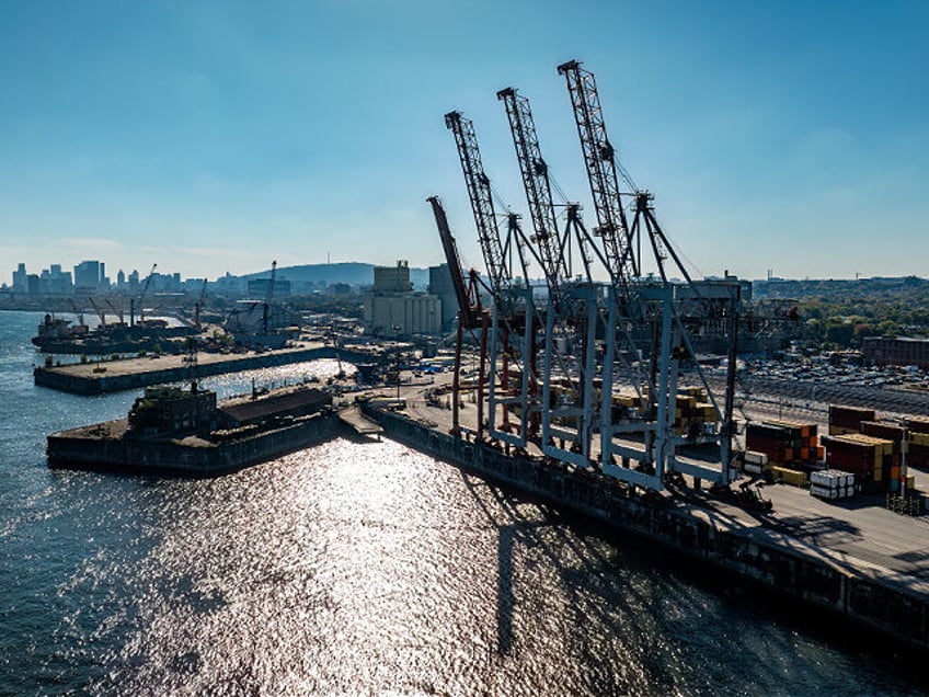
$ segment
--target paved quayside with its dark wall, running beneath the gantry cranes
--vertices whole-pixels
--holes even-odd
[[[489,481],[761,583],[790,604],[825,609],[852,628],[929,650],[929,516],[896,514],[880,496],[824,501],[787,484],[765,488],[775,509],[765,513],[690,488],[642,495],[538,454],[509,455],[497,445],[452,437],[448,410],[429,405],[413,389],[403,397],[405,409],[371,400],[362,412],[387,437]],[[473,422],[474,412],[472,405],[462,410],[462,425]]]

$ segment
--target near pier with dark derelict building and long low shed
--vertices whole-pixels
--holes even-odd
[[[234,471],[335,436],[332,398],[282,388],[217,401],[198,388],[149,387],[124,419],[55,433],[49,467],[208,477]]]

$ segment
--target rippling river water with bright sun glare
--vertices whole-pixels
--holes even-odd
[[[50,471],[48,433],[122,416],[136,393],[35,388],[38,320],[0,312],[0,694],[927,689],[862,645],[876,639],[821,631],[390,441],[210,480]]]

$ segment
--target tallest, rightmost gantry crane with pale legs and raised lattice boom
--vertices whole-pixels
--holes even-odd
[[[672,423],[675,413],[678,364],[683,356],[692,354],[686,329],[677,313],[675,289],[668,282],[664,266],[664,261],[668,254],[672,255],[691,288],[693,288],[693,284],[654,216],[653,196],[646,191],[638,190],[631,178],[616,160],[616,149],[607,136],[594,75],[582,68],[577,60],[562,64],[558,67],[558,72],[565,78],[567,83],[587,179],[597,214],[598,227],[595,232],[603,240],[613,287],[607,322],[607,345],[601,367],[599,432],[603,469],[605,473],[617,476],[626,481],[660,489],[665,471],[675,469],[681,471],[684,469],[684,466],[676,461],[676,438]],[[627,222],[621,201],[620,174],[630,188],[629,194],[634,196],[635,219],[631,229]],[[654,284],[636,284],[638,287],[633,289],[631,287],[633,279],[641,275],[642,227],[644,227],[652,247],[662,283],[657,286]],[[640,249],[633,248],[633,240],[639,241]],[[696,288],[693,289],[699,297],[699,292]],[[654,421],[650,418],[638,424],[615,423],[610,401],[613,381],[620,374],[620,366],[618,366],[617,361],[622,359],[622,353],[617,345],[617,328],[626,328],[630,320],[642,327],[647,327],[650,323],[647,318],[652,318],[651,324],[654,328],[654,331],[647,330],[647,333],[652,334],[654,339],[652,340],[652,366],[647,379],[646,403],[649,405],[647,413],[652,414],[654,410],[656,415]],[[628,339],[630,344],[628,348],[631,348],[634,341],[631,335],[628,335]],[[629,375],[629,372],[626,372],[626,374]],[[700,375],[715,405],[712,392],[709,390],[702,374]],[[639,391],[638,382],[638,379],[633,382],[636,392]],[[719,414],[718,407],[716,412]],[[732,420],[731,395],[727,396],[723,419],[724,430],[729,432]],[[615,444],[615,434],[629,433],[639,429],[642,430],[644,448],[617,446]],[[726,437],[722,439],[722,460],[724,462],[729,460],[727,439]],[[624,462],[630,459],[638,460],[644,467],[638,470],[616,467],[612,462],[615,456],[621,457]],[[720,483],[727,481],[726,466],[723,466],[719,476],[715,471],[708,472],[700,468],[690,468],[687,471],[695,477],[709,475],[710,478],[715,478]]]

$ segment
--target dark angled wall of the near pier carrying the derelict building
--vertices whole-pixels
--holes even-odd
[[[341,431],[335,414],[321,413],[294,425],[219,444],[88,437],[65,432],[48,436],[46,453],[49,467],[207,477],[272,460],[328,441]]]

